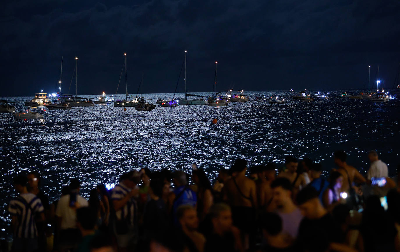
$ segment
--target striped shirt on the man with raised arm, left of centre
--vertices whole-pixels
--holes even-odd
[[[111,200],[121,200],[124,198],[131,189],[126,187],[124,183],[119,183],[112,189]],[[132,197],[126,204],[115,212],[118,220],[126,219],[130,226],[134,226],[137,223],[138,206],[136,200]]]

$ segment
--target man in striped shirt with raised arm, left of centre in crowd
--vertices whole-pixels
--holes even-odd
[[[133,251],[138,241],[138,171],[124,173],[112,189],[111,200],[115,211],[114,232],[118,251]]]

